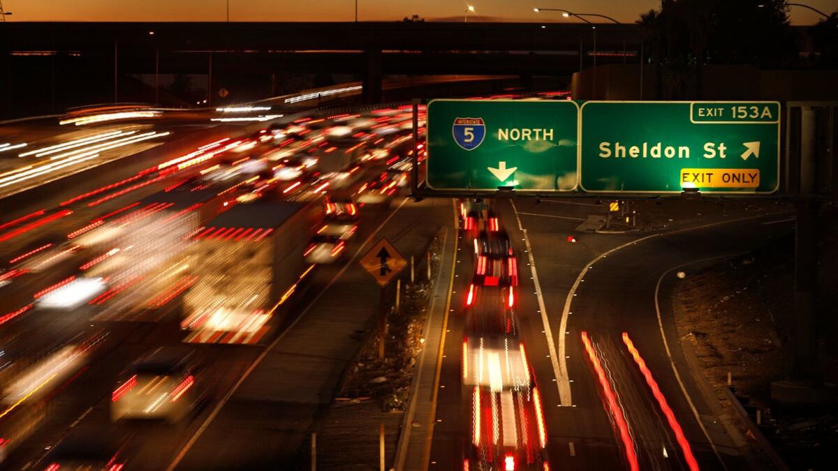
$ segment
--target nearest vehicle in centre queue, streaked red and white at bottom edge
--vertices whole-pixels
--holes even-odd
[[[541,393],[537,386],[473,386],[471,440],[463,469],[550,471]]]

